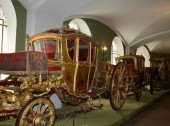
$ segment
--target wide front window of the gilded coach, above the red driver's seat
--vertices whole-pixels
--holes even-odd
[[[54,59],[60,60],[61,58],[59,40],[54,39],[36,40],[33,42],[33,50],[46,53],[48,59],[51,60]]]

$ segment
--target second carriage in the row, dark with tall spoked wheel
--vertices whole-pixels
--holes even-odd
[[[124,105],[128,92],[135,95],[137,101],[141,98],[144,81],[144,57],[136,55],[120,56],[116,58],[110,80],[110,104],[119,110]]]

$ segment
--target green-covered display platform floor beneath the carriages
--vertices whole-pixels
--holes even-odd
[[[114,111],[109,100],[102,99],[102,109],[89,112],[78,111],[75,118],[57,119],[55,126],[120,126],[133,118],[136,114],[156,103],[162,97],[169,94],[169,90],[161,90],[151,95],[149,91],[142,93],[141,101],[136,101],[134,96],[128,96],[125,105],[120,111]],[[78,109],[79,106],[76,107]],[[73,108],[65,107],[63,111],[71,111]],[[62,110],[57,110],[60,113]],[[15,119],[0,122],[0,126],[15,126]]]

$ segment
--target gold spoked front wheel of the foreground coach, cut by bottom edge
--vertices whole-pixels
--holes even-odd
[[[16,126],[54,126],[56,118],[53,103],[45,97],[31,99],[19,112]]]

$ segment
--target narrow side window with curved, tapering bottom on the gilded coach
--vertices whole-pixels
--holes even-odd
[[[75,41],[75,39],[67,39],[68,54],[72,60],[74,59],[75,53]]]

